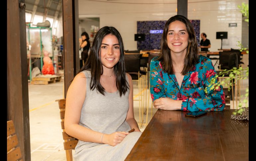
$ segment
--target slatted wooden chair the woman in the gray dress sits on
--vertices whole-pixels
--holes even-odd
[[[59,103],[60,115],[61,115],[61,127],[63,129],[62,136],[64,140],[64,150],[66,151],[66,160],[72,161],[72,149],[75,149],[75,146],[78,140],[72,136],[69,136],[65,132],[64,127],[64,117],[65,117],[65,108],[66,108],[66,99],[56,100],[55,102]]]

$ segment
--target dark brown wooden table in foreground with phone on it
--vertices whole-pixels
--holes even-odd
[[[231,120],[234,110],[158,110],[125,160],[249,160],[249,121]]]

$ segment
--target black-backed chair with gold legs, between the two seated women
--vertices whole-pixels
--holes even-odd
[[[138,94],[135,95],[133,98],[133,101],[139,101],[139,119],[140,119],[140,127],[142,127],[143,123],[143,109],[144,109],[144,86],[143,86],[143,77],[140,73],[140,58],[141,54],[124,54],[124,61],[125,61],[125,70],[128,74],[131,75],[132,80],[138,82]],[[135,100],[135,98],[137,98]]]

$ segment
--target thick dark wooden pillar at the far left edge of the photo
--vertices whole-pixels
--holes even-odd
[[[7,1],[7,120],[13,120],[22,159],[31,160],[25,0]],[[22,7],[20,7],[22,6]]]

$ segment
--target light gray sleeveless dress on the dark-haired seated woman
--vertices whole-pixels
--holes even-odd
[[[106,134],[129,131],[131,128],[125,119],[129,109],[130,90],[122,97],[119,92],[105,92],[103,96],[96,89],[90,90],[90,71],[84,70],[82,73],[86,77],[86,97],[81,109],[79,124]],[[123,161],[140,135],[141,132],[131,132],[116,146],[78,140],[73,158],[75,161]]]

